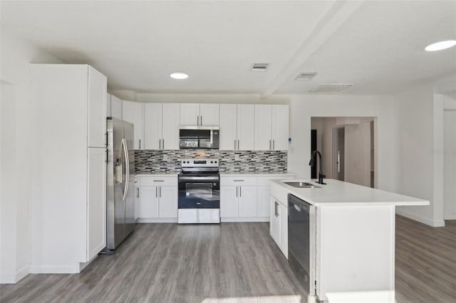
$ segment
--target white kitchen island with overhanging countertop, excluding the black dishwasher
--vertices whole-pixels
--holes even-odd
[[[429,201],[332,179],[326,185],[309,181],[319,186],[314,188],[296,188],[290,181],[306,182],[271,181],[270,233],[288,258],[288,194],[316,206],[306,252],[310,280],[300,281],[310,285],[309,302],[326,302],[328,292],[393,291],[395,206]]]

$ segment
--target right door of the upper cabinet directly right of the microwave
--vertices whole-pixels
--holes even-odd
[[[254,105],[237,105],[237,149],[254,149]]]

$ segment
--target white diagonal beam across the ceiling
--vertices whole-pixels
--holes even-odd
[[[301,46],[291,55],[291,58],[285,63],[277,73],[274,80],[271,81],[266,88],[261,92],[261,97],[268,97],[290,78],[295,78],[299,73],[299,68],[313,55],[328,38],[359,9],[365,0],[334,1],[323,18],[318,21],[314,29],[309,33],[309,36],[301,43]]]

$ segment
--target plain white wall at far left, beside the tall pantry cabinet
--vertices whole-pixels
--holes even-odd
[[[0,282],[13,283],[28,273],[31,260],[30,175],[28,144],[31,112],[28,63],[61,63],[45,51],[1,28]],[[12,90],[12,92],[11,92]],[[4,97],[6,97],[4,99]],[[7,220],[3,220],[7,218]],[[5,253],[4,253],[5,252]]]

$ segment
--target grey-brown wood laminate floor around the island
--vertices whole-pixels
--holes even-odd
[[[396,299],[456,302],[456,221],[396,217]],[[74,275],[28,275],[0,302],[306,302],[269,223],[138,224],[115,255]]]

